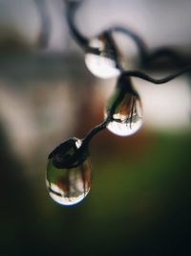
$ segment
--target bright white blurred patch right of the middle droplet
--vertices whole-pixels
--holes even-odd
[[[170,132],[190,130],[191,90],[188,78],[182,77],[165,84],[153,84],[135,79],[142,99],[147,128]]]

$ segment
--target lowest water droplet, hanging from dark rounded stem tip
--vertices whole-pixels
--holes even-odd
[[[47,188],[51,198],[63,205],[80,202],[90,191],[91,163],[81,144],[81,140],[71,138],[49,155]]]

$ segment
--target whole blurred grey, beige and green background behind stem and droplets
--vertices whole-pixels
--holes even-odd
[[[190,58],[190,11],[187,0],[84,0],[76,24],[88,36],[122,24],[151,50]],[[190,74],[162,85],[133,79],[143,128],[93,139],[93,184],[81,203],[49,198],[48,154],[102,122],[116,84],[87,70],[64,13],[61,0],[0,0],[1,255],[189,255]],[[132,39],[118,43],[137,68]],[[147,73],[161,78],[169,67]]]

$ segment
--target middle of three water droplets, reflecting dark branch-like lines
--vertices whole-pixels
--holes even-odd
[[[108,101],[105,118],[109,117],[107,128],[110,131],[119,136],[128,136],[142,126],[142,107],[138,93],[133,90],[131,83],[128,81],[124,84],[122,81],[121,86],[120,82]]]

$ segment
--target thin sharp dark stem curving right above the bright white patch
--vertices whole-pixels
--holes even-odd
[[[140,72],[138,70],[123,72],[121,74],[121,76],[122,77],[134,77],[134,78],[142,79],[142,80],[145,80],[145,81],[150,81],[150,82],[153,82],[153,83],[156,83],[156,84],[160,84],[160,83],[172,81],[172,80],[176,79],[177,77],[183,75],[186,72],[191,72],[191,66],[188,66],[188,67],[186,67],[184,69],[181,69],[179,72],[177,72],[177,73],[175,73],[173,75],[170,75],[170,76],[168,76],[166,78],[162,78],[162,79],[151,78],[147,74],[144,74],[144,73],[142,73],[142,72]]]

